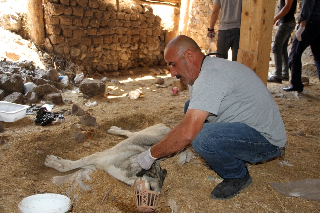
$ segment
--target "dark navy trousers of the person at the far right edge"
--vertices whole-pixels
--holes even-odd
[[[306,25],[301,35],[301,41],[293,39],[289,54],[289,67],[291,72],[291,85],[296,89],[303,89],[301,81],[303,51],[310,45],[320,81],[320,21],[312,21]]]

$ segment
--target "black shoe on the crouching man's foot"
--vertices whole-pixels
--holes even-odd
[[[247,170],[247,168],[246,168]],[[219,183],[211,192],[211,198],[215,200],[228,200],[239,194],[239,192],[252,183],[252,178],[249,175],[249,171],[244,178],[237,179],[224,179]]]

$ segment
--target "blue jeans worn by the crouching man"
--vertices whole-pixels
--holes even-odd
[[[185,109],[188,106],[189,100]],[[245,162],[266,161],[280,154],[279,147],[239,122],[204,123],[191,144],[222,178],[243,178],[246,175]]]

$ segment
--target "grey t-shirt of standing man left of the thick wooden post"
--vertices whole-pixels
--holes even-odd
[[[214,0],[220,4],[220,18],[218,30],[240,28],[242,0]]]

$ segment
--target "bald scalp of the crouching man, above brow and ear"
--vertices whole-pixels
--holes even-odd
[[[179,58],[183,58],[186,50],[191,50],[194,53],[201,53],[199,45],[192,38],[185,35],[179,35],[168,43],[164,49],[164,55],[166,51],[175,51]]]

